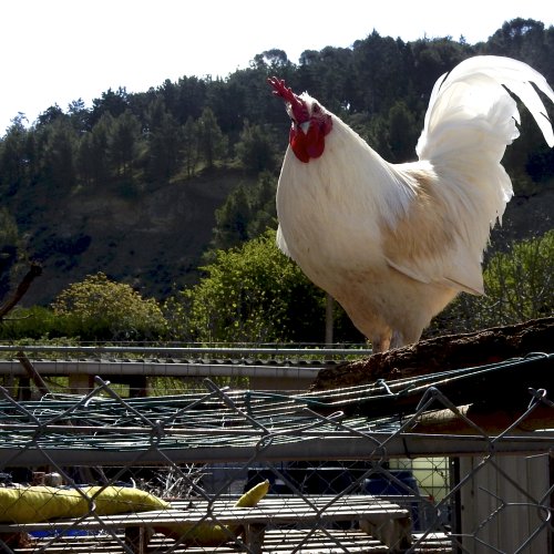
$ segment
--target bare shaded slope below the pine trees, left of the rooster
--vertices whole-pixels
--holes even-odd
[[[160,186],[141,199],[107,191],[35,197],[40,208],[30,209],[22,230],[43,275],[24,304],[48,304],[70,283],[96,271],[163,298],[174,283],[189,283],[196,275],[212,238],[214,211],[239,178],[215,172]]]

